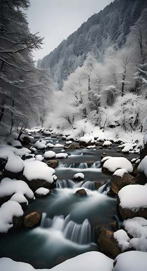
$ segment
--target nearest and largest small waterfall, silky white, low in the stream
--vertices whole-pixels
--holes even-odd
[[[60,231],[68,240],[78,244],[89,244],[94,240],[94,231],[88,221],[85,219],[82,224],[77,224],[70,220],[70,215],[65,219],[63,215],[51,218],[42,217],[41,227],[49,231]]]

